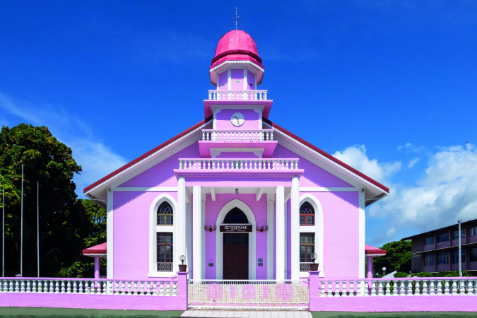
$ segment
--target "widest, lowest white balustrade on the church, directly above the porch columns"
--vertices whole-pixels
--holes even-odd
[[[294,170],[298,159],[179,159],[179,170]]]

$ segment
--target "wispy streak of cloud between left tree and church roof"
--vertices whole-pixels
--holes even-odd
[[[49,104],[31,105],[24,101],[13,102],[7,95],[0,93],[0,109],[20,117],[23,122],[47,126],[53,136],[71,148],[73,158],[83,168],[81,175],[73,177],[76,194],[79,197],[83,196],[84,187],[127,163],[121,155],[95,140],[93,131],[87,124],[81,119],[72,117],[60,107]],[[1,119],[2,117],[0,123]]]

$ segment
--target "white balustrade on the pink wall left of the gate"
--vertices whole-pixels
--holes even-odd
[[[0,278],[0,293],[177,296],[177,281]]]

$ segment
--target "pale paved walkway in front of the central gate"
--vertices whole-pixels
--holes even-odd
[[[307,310],[187,310],[181,317],[312,318]]]

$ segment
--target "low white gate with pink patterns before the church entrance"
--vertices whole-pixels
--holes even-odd
[[[308,280],[191,280],[189,307],[308,307]]]

